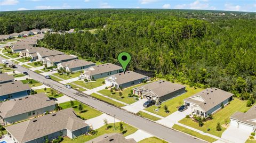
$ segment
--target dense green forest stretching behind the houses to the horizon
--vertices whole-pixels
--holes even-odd
[[[93,29],[46,34],[41,46],[92,61],[132,55],[130,70],[195,87],[217,87],[241,99],[256,97],[255,13],[189,10],[50,10],[0,13],[0,31]],[[236,16],[235,16],[236,15]],[[10,22],[6,24],[5,20]],[[1,26],[2,24],[2,26]],[[104,25],[107,25],[103,28]]]

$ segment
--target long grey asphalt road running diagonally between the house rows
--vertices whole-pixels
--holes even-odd
[[[4,58],[0,57],[0,59],[2,61]],[[9,64],[15,64],[15,63],[9,61]],[[143,117],[129,113],[125,110],[122,110],[121,108],[117,108],[117,107],[109,105],[105,102],[101,102],[100,100],[94,99],[90,96],[87,96],[86,94],[83,94],[83,93],[81,94],[74,89],[67,89],[59,82],[45,79],[43,77],[43,75],[41,75],[41,74],[37,74],[33,71],[23,68],[22,66],[20,66],[18,64],[15,64],[15,65],[17,66],[17,68],[15,70],[17,70],[21,73],[25,72],[25,71],[28,72],[30,75],[30,78],[33,78],[39,82],[42,82],[45,85],[50,86],[51,88],[58,90],[69,97],[79,100],[80,102],[82,102],[84,104],[92,106],[99,111],[102,111],[102,112],[112,115],[112,116],[116,115],[117,119],[124,121],[125,123],[131,124],[133,127],[136,127],[141,130],[144,130],[148,133],[151,133],[156,137],[162,138],[166,141],[173,142],[173,143],[176,143],[176,142],[177,143],[205,142],[205,141],[193,138],[185,133],[175,131],[173,129],[164,127],[161,124],[149,121],[147,119],[144,119]]]

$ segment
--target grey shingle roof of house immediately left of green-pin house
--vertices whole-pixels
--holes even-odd
[[[106,64],[91,66],[91,68],[84,70],[84,74],[92,76],[92,75],[115,71],[115,70],[122,70],[122,67],[115,64],[106,63]]]

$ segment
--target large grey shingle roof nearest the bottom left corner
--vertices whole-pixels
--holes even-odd
[[[63,129],[73,132],[87,126],[82,119],[76,116],[72,108],[67,108],[59,112],[10,125],[5,129],[20,143],[23,143]]]

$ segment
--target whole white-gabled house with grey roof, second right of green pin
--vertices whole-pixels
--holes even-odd
[[[189,107],[188,110],[191,110],[191,114],[206,117],[217,112],[222,105],[227,105],[232,100],[233,95],[218,88],[206,88],[184,99],[184,102]]]

